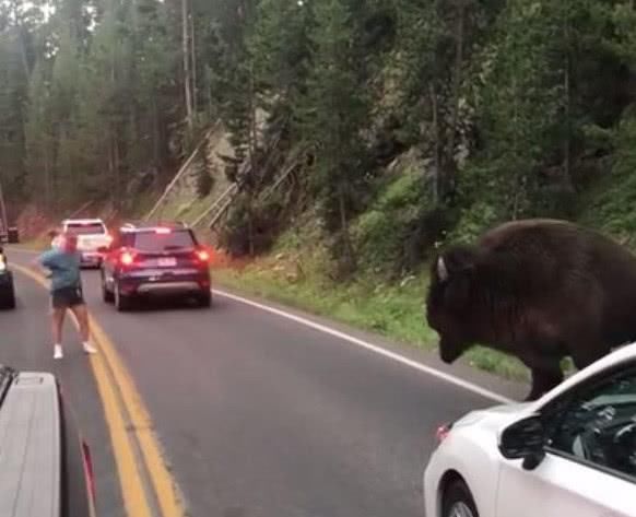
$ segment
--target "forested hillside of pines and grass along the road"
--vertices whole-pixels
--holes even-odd
[[[222,127],[162,211],[235,184],[217,277],[431,345],[448,242],[550,216],[636,246],[635,85],[631,0],[3,2],[0,178],[14,214],[140,215]]]

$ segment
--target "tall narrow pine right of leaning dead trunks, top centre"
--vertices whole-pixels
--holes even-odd
[[[315,26],[310,73],[301,113],[305,139],[315,150],[313,183],[321,216],[344,272],[355,268],[350,220],[364,190],[362,128],[368,119],[366,92],[360,81],[355,26],[342,0],[311,3]],[[344,251],[344,252],[342,252]]]

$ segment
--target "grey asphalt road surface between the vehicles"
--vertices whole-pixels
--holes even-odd
[[[120,515],[101,404],[75,333],[73,352],[54,365],[46,293],[23,279],[17,289],[19,309],[0,313],[0,361],[60,373],[97,448],[99,509]],[[102,302],[97,272],[84,273],[84,291],[150,409],[192,516],[422,516],[421,479],[435,428],[494,403],[227,297],[215,296],[211,309],[162,304],[118,314]],[[476,380],[523,395],[485,376]]]

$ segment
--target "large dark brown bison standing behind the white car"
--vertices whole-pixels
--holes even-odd
[[[580,369],[636,340],[636,257],[566,221],[506,223],[435,257],[426,320],[445,363],[478,343],[519,357],[535,400],[563,357]]]

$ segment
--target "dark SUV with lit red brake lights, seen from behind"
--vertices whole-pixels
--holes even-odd
[[[117,310],[151,296],[192,297],[202,307],[212,303],[210,255],[182,224],[128,224],[101,251],[103,298]]]

